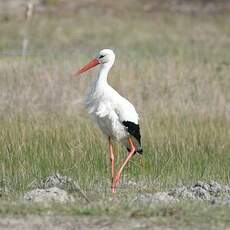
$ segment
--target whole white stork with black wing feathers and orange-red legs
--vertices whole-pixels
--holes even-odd
[[[142,154],[139,115],[134,106],[122,97],[107,81],[108,73],[115,62],[115,54],[111,49],[102,49],[88,64],[73,72],[74,76],[100,65],[96,80],[85,97],[85,107],[102,133],[108,139],[109,158],[111,162],[111,190],[116,192],[121,174],[131,157]],[[128,151],[127,157],[115,172],[115,156],[113,141],[124,145]]]

